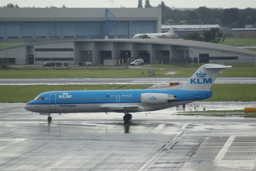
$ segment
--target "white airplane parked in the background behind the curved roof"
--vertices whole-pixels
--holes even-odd
[[[135,34],[132,38],[138,39],[140,36],[148,35],[150,38],[154,39],[166,39],[166,38],[179,38],[177,34],[174,33],[175,28],[171,28],[168,32],[165,33],[140,33]]]

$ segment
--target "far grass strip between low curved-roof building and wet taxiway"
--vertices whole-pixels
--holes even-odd
[[[239,64],[242,65],[242,64]],[[0,78],[146,78],[149,69],[44,69],[44,70],[0,70]],[[197,68],[164,68],[154,69],[154,78],[191,77]],[[164,75],[169,71],[178,71],[174,75]],[[256,68],[228,68],[218,77],[256,77]]]

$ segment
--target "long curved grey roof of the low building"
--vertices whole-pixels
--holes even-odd
[[[246,54],[250,56],[256,55],[256,52],[251,50],[246,50],[242,48],[236,48],[234,46],[227,46],[222,44],[214,44],[208,42],[198,42],[193,40],[182,40],[182,39],[108,39],[108,40],[62,40],[56,42],[126,42],[126,43],[148,43],[148,44],[163,44],[163,45],[172,45],[172,46],[188,46],[193,48],[203,48],[210,50],[221,50],[225,52],[233,52],[239,54]],[[45,43],[54,43],[54,42],[38,42],[38,43],[30,43],[30,44],[21,44],[18,46],[28,46],[34,44],[45,44]],[[3,49],[18,47],[12,46]]]

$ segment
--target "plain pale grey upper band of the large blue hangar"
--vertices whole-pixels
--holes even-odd
[[[0,8],[0,21],[104,21],[107,8]],[[108,8],[120,21],[161,20],[161,8]],[[55,18],[56,15],[56,18]]]

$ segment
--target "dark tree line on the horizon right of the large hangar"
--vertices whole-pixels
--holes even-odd
[[[149,0],[146,0],[145,8],[152,7]],[[182,24],[180,21],[186,20],[188,24],[220,24],[231,28],[244,27],[246,24],[255,24],[255,8],[226,8],[211,9],[205,6],[196,10],[172,10],[163,1],[156,6],[162,9],[162,24],[168,19],[173,20],[173,24]],[[138,8],[142,8],[142,0],[138,0]]]

